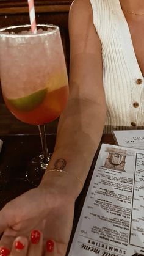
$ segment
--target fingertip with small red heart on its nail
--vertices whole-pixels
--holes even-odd
[[[27,256],[28,240],[23,236],[18,236],[13,241],[12,250],[9,256]]]

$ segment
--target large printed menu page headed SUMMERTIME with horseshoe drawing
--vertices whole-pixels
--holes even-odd
[[[143,151],[103,144],[68,255],[144,255],[143,191]]]

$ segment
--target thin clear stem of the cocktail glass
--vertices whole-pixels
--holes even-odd
[[[45,125],[38,125],[38,130],[40,133],[41,146],[42,146],[42,151],[43,151],[43,163],[45,165],[48,165],[50,157],[49,157],[48,147],[47,147],[47,143],[46,143]]]

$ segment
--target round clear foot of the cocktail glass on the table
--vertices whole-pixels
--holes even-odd
[[[51,154],[48,155],[48,158],[43,161],[43,155],[36,156],[28,163],[26,168],[26,179],[33,186],[38,186],[40,184],[43,174],[45,174],[46,167],[48,166]]]

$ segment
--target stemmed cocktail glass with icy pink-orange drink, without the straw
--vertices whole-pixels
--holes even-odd
[[[37,25],[0,29],[0,77],[7,108],[38,125],[43,154],[32,159],[27,179],[37,185],[50,159],[45,124],[59,117],[68,100],[68,77],[59,27]]]

